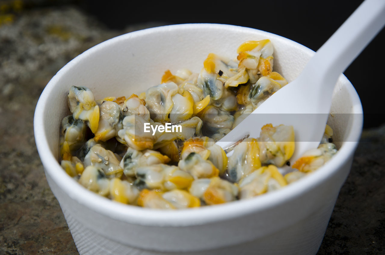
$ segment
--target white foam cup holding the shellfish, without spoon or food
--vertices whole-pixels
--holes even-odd
[[[199,72],[210,52],[230,58],[247,40],[270,39],[274,70],[289,82],[314,52],[264,31],[220,24],[156,27],[107,40],[65,65],[35,109],[34,132],[47,181],[80,254],[315,254],[352,164],[362,131],[362,106],[341,75],[329,125],[338,153],[305,178],[250,200],[190,210],[124,205],[81,186],[60,168],[59,126],[72,85],[95,98],[130,96],[159,84],[170,69]]]

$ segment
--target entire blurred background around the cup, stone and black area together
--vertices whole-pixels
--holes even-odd
[[[33,137],[37,100],[71,59],[117,35],[192,22],[253,27],[317,50],[361,2],[0,0],[0,255],[78,254]],[[365,128],[318,254],[385,253],[384,42],[382,31],[345,71]]]

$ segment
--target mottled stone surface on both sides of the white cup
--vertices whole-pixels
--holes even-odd
[[[37,100],[76,55],[156,25],[114,31],[71,6],[24,10],[0,25],[0,254],[79,254],[37,154]],[[385,127],[364,130],[319,255],[385,253],[384,155]]]

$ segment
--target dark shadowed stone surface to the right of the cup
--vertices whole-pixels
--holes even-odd
[[[385,254],[385,126],[364,129],[318,252]]]

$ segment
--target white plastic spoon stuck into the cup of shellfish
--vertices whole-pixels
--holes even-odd
[[[317,148],[325,132],[333,89],[339,75],[385,24],[385,0],[366,0],[316,52],[301,74],[275,92],[216,144],[229,148],[246,134],[258,138],[267,123],[295,130],[293,163]],[[231,152],[230,152],[231,153]]]

